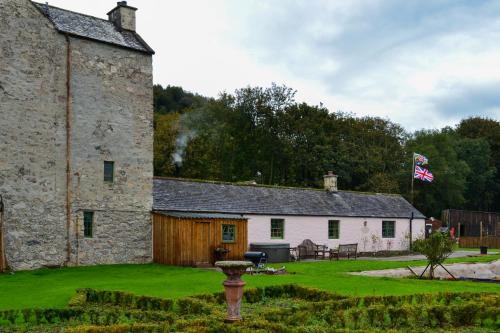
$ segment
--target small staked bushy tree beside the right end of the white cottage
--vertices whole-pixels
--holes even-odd
[[[434,269],[450,256],[455,241],[446,233],[433,232],[428,238],[415,240],[413,250],[423,254],[429,262],[429,277],[434,278]]]

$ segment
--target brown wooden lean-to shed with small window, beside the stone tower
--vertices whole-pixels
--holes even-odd
[[[153,212],[155,263],[212,266],[216,249],[229,251],[225,260],[242,260],[247,238],[247,219],[241,215]]]

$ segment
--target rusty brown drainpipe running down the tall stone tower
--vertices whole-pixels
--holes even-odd
[[[71,40],[66,35],[66,262],[71,261],[71,120],[73,100],[71,97]]]

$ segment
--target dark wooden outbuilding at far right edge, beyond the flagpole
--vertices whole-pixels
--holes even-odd
[[[447,209],[442,222],[455,229],[462,247],[500,247],[500,213]]]

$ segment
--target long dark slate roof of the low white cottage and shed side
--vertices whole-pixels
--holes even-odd
[[[154,180],[153,210],[226,214],[357,216],[415,218],[425,216],[400,195],[327,192],[172,178]]]

